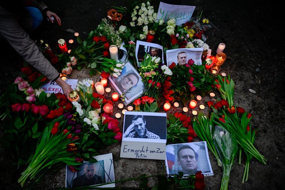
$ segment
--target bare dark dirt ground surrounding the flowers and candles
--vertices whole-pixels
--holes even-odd
[[[152,1],[154,3],[155,1]],[[57,40],[59,38],[74,39],[73,29],[82,38],[95,29],[101,18],[106,16],[110,6],[124,6],[127,1],[46,1],[51,11],[61,18],[62,26],[44,22],[39,30],[31,34],[35,39],[41,37],[50,44],[53,52],[59,53]],[[159,3],[159,2],[158,2]],[[285,189],[284,188],[284,21],[281,17],[281,5],[271,1],[182,1],[184,5],[196,6],[203,10],[203,16],[219,29],[207,41],[213,52],[219,43],[226,44],[224,53],[228,58],[222,65],[222,71],[230,74],[235,81],[235,104],[244,107],[254,117],[252,125],[259,132],[255,147],[267,159],[262,165],[252,159],[249,169],[249,179],[242,183],[245,159],[242,164],[234,165],[229,181],[229,189]],[[196,11],[195,11],[196,12]],[[195,14],[195,13],[194,13]],[[283,26],[283,27],[282,27]],[[3,87],[12,83],[20,71],[20,57],[7,44],[0,41],[1,80]],[[74,46],[78,45],[77,42]],[[215,54],[215,53],[214,53]],[[283,85],[282,85],[283,84]],[[253,89],[256,94],[249,91]],[[218,94],[218,92],[215,92]],[[107,95],[108,97],[108,95]],[[219,97],[219,96],[218,96]],[[206,102],[208,97],[202,99]],[[115,104],[117,105],[117,104]],[[116,107],[116,106],[115,106]],[[169,113],[181,111],[182,107],[171,109]],[[208,109],[204,111],[208,114]],[[115,111],[116,113],[116,111]],[[188,113],[190,114],[190,113]],[[119,120],[123,126],[123,119]],[[0,123],[0,129],[1,129]],[[3,134],[0,134],[0,136]],[[199,139],[195,139],[199,141]],[[124,179],[153,175],[165,172],[164,162],[157,160],[135,160],[120,158],[120,143],[117,143],[102,153],[113,153],[115,179]],[[214,176],[206,177],[206,189],[216,190],[220,187],[222,169],[216,165],[211,153],[210,160]],[[20,189],[17,179],[23,168],[17,167],[17,162],[11,150],[0,147],[0,187],[1,189]],[[18,168],[18,169],[17,169]],[[149,184],[154,184],[155,179]],[[119,186],[136,186],[138,182],[131,181]],[[65,169],[58,173],[47,174],[45,179],[35,189],[56,189],[65,185]]]

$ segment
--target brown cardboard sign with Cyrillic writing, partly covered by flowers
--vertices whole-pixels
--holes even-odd
[[[92,77],[89,75],[91,68],[86,68],[86,66],[82,66],[81,70],[73,69],[72,72],[68,75],[69,79],[77,79],[78,81],[83,81],[84,79],[93,80],[94,83],[100,81],[100,74],[93,75]]]

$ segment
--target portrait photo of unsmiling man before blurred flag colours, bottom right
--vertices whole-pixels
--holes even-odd
[[[183,172],[187,175],[202,171],[205,176],[214,175],[206,141],[167,145],[165,164],[167,174]]]

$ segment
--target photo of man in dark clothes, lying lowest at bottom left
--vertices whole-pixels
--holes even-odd
[[[66,165],[66,188],[98,185],[115,181],[112,153],[94,156],[95,163],[83,162],[76,166],[79,170],[72,172]],[[115,184],[107,184],[100,187],[115,187]]]

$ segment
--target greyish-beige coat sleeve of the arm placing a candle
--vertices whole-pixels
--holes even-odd
[[[0,6],[0,34],[10,45],[34,68],[42,72],[48,79],[54,80],[59,73],[39,51],[37,45],[20,27],[16,15]]]

